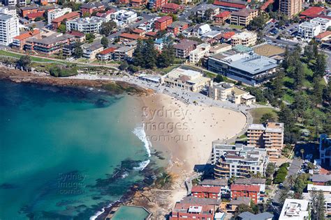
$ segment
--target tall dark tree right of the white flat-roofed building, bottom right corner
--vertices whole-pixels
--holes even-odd
[[[311,202],[311,219],[324,220],[325,214],[325,197],[322,191],[317,191],[313,188],[310,192]]]

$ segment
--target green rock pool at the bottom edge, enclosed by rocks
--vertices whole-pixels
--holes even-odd
[[[112,220],[144,220],[146,217],[148,217],[148,214],[149,213],[141,207],[121,206],[115,212],[115,215],[112,217]]]

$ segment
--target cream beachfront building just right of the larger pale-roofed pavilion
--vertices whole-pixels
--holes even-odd
[[[220,83],[210,81],[209,97],[212,97],[214,100],[229,100],[235,104],[250,105],[256,102],[255,96],[244,91],[242,88],[225,81]]]

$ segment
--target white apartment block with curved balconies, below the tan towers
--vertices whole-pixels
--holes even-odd
[[[213,141],[212,146],[214,178],[247,178],[250,173],[265,173],[269,161],[265,149],[241,143],[226,145],[220,141]]]

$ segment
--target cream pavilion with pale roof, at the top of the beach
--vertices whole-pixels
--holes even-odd
[[[211,79],[203,77],[203,74],[194,70],[177,68],[163,77],[164,84],[185,88],[193,92],[199,92],[209,84]]]

